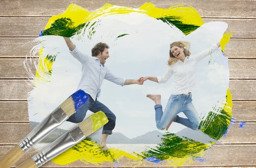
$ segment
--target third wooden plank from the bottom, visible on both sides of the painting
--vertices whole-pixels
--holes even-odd
[[[0,122],[29,122],[27,101],[0,101]],[[256,101],[233,101],[236,122],[256,122]]]

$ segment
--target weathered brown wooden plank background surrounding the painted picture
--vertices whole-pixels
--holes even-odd
[[[44,29],[49,17],[61,14],[70,3],[87,8],[100,8],[105,3],[138,8],[144,0],[0,0],[0,157],[17,144],[29,131],[27,95],[32,90],[26,82],[28,75],[23,67],[28,43]],[[225,55],[229,58],[230,92],[233,94],[233,117],[238,123],[230,126],[222,144],[214,145],[204,155],[206,162],[195,161],[183,167],[250,167],[256,166],[256,1],[255,0],[151,0],[156,7],[169,8],[180,3],[193,6],[204,22],[224,21],[234,31]],[[234,22],[234,23],[233,23]],[[231,24],[233,23],[233,24]],[[28,43],[23,46],[23,44]],[[32,70],[35,72],[35,69]],[[239,128],[240,122],[246,122]],[[13,167],[35,154],[30,151]],[[133,167],[122,160],[122,167]],[[141,167],[167,167],[168,163],[145,163]],[[116,167],[114,163],[99,165]],[[43,167],[81,168],[97,167],[76,161],[70,165]]]

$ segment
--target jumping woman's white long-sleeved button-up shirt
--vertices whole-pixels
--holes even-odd
[[[217,50],[217,44],[212,44],[206,50],[186,57],[184,63],[178,60],[175,64],[168,66],[166,73],[162,77],[157,77],[158,83],[166,83],[174,75],[175,90],[173,94],[187,94],[198,90],[195,75],[196,66],[200,60]]]

